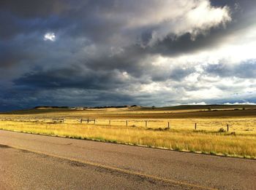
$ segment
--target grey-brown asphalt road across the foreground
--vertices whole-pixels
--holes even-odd
[[[0,130],[0,189],[256,189],[256,160]]]

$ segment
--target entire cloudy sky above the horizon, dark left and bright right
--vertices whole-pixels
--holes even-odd
[[[0,111],[256,103],[255,0],[1,0]]]

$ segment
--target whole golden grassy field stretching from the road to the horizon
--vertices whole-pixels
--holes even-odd
[[[214,111],[206,108],[45,109],[0,114],[0,129],[256,159],[255,115],[254,107],[243,110],[228,106]],[[53,118],[65,120],[53,123]],[[81,124],[82,118],[96,119],[96,122]]]

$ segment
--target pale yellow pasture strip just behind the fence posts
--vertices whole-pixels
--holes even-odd
[[[58,113],[58,112],[57,112]],[[76,112],[75,112],[76,113]],[[72,114],[75,114],[72,113]],[[117,126],[117,127],[142,127],[144,129],[161,130],[170,125],[172,130],[194,130],[195,124],[197,124],[197,131],[218,131],[221,128],[227,130],[227,124],[229,124],[229,131],[236,134],[255,134],[256,133],[256,118],[255,117],[230,117],[230,118],[185,118],[185,119],[102,119],[94,116],[78,116],[78,115],[55,115],[55,114],[36,114],[36,115],[12,115],[5,117],[0,115],[0,120],[10,120],[19,122],[48,122],[51,123],[53,118],[64,118],[65,124],[79,124],[80,119],[85,119],[83,124],[86,124],[86,119],[96,119],[97,125],[102,126]],[[118,114],[115,114],[118,116]],[[110,123],[110,124],[109,124]],[[90,121],[89,124],[94,124],[94,121]]]

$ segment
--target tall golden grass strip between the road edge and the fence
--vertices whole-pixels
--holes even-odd
[[[156,130],[125,125],[0,121],[1,130],[54,135],[256,159],[256,132],[217,132],[190,128]],[[148,130],[149,129],[149,130]]]

